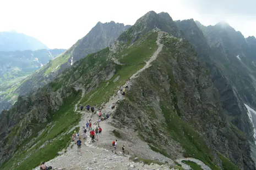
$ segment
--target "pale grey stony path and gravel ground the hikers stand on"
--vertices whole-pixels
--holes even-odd
[[[137,75],[148,68],[150,63],[154,61],[157,55],[161,52],[162,44],[160,43],[160,38],[163,35],[163,32],[159,32],[157,38],[157,50],[152,55],[149,61],[146,62],[146,65],[136,72],[129,80],[129,86],[135,80]],[[76,87],[77,89],[82,89]],[[84,95],[84,89],[82,93],[82,98]],[[47,166],[52,166],[56,169],[170,169],[170,167],[175,166],[175,163],[170,158],[167,158],[155,151],[152,151],[148,144],[144,141],[141,141],[138,138],[138,134],[135,133],[132,129],[116,129],[112,126],[115,120],[112,120],[111,114],[115,112],[115,109],[111,109],[113,103],[117,103],[118,100],[122,100],[123,96],[121,94],[115,94],[111,99],[104,105],[102,105],[101,112],[109,113],[110,118],[108,120],[100,122],[100,127],[102,128],[102,135],[99,137],[99,140],[96,140],[95,143],[91,143],[89,133],[86,134],[87,137],[83,139],[83,127],[90,118],[92,120],[92,129],[95,129],[97,126],[98,112],[96,111],[94,115],[91,112],[87,111],[78,111],[82,114],[81,121],[78,124],[80,127],[79,136],[82,138],[83,145],[81,146],[81,152],[78,153],[77,145],[74,141],[70,143],[66,151],[59,152],[60,156],[46,162]],[[78,104],[80,101],[78,102]],[[78,104],[75,105],[74,110],[77,111]],[[74,127],[75,128],[75,127]],[[74,129],[73,128],[73,129]],[[70,133],[73,131],[70,131]],[[117,139],[112,131],[116,129],[121,133],[122,138]],[[70,137],[71,138],[71,137]],[[117,139],[117,154],[111,152],[112,141]],[[129,151],[129,155],[122,155],[122,146],[126,145],[126,149]],[[165,163],[165,165],[157,165],[151,163],[151,165],[146,165],[143,162],[134,162],[132,155],[138,155],[140,157],[147,158],[148,160],[160,161]],[[190,169],[189,166],[182,163],[182,160],[187,160],[188,158],[181,158],[178,161],[184,169]],[[204,165],[203,162],[195,159],[190,159],[190,161],[198,163],[203,169],[210,169],[208,166]],[[35,168],[39,169],[39,168]],[[172,168],[175,169],[175,168]]]

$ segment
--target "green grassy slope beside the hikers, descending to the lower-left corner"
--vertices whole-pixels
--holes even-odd
[[[46,131],[43,132],[39,137],[36,137],[37,133],[36,129],[34,129],[34,136],[36,137],[29,146],[26,144],[32,140],[32,137],[28,140],[25,140],[22,145],[17,149],[18,154],[14,155],[8,162],[5,162],[1,169],[31,169],[40,164],[41,161],[49,161],[52,158],[57,156],[57,152],[61,151],[63,148],[67,148],[67,145],[70,142],[72,133],[64,134],[69,131],[69,129],[80,121],[80,114],[77,114],[73,111],[74,104],[79,100],[80,95],[74,95],[74,97],[64,100],[63,105],[60,109],[53,113],[51,116],[52,123],[50,126],[45,127]],[[43,127],[41,127],[42,129]],[[76,129],[79,131],[79,128]],[[63,134],[62,136],[59,136]],[[51,141],[50,143],[45,145],[45,148],[41,148],[46,141]],[[34,145],[34,148],[31,148]],[[23,150],[23,148],[26,148]],[[30,155],[31,154],[31,155]],[[29,156],[24,160],[26,156]],[[24,161],[23,161],[24,160]],[[23,161],[23,162],[21,162]],[[17,163],[21,162],[18,167]]]

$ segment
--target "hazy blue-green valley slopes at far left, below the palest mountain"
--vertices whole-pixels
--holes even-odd
[[[0,110],[8,109],[18,97],[13,91],[32,72],[63,53],[64,49],[0,52]]]

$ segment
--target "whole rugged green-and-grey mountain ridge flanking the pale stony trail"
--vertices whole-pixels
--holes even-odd
[[[27,95],[0,115],[1,169],[31,169],[57,156],[81,119],[78,100],[100,109],[130,78],[112,116],[116,128],[132,129],[173,160],[254,170],[244,104],[256,109],[255,44],[225,23],[205,27],[167,13],[149,12],[133,26],[99,22],[16,90]]]

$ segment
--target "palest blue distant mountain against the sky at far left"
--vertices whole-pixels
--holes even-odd
[[[48,47],[34,37],[17,32],[0,32],[0,51],[37,50]]]

